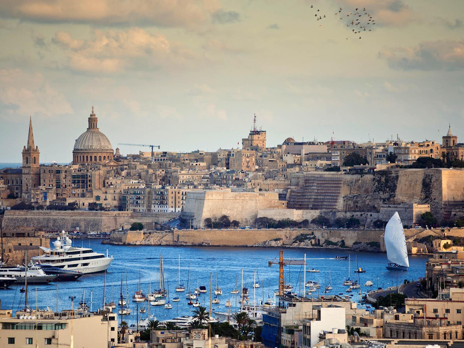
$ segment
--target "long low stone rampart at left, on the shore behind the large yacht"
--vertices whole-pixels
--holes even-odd
[[[154,229],[155,222],[171,219],[174,213],[136,212],[90,212],[52,210],[7,210],[3,218],[3,228],[32,226],[43,231],[72,231],[79,227],[82,232],[110,232],[119,228],[128,229],[133,222],[141,222],[146,229]]]

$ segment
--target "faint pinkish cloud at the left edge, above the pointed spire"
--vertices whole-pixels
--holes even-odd
[[[73,114],[64,95],[54,89],[41,73],[30,74],[20,69],[0,70],[0,115],[47,116]]]

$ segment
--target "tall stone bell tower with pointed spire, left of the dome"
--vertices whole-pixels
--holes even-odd
[[[32,133],[32,118],[29,119],[29,135],[27,145],[23,148],[23,193],[22,201],[26,204],[31,202],[31,188],[40,185],[39,148],[34,145],[34,134]]]

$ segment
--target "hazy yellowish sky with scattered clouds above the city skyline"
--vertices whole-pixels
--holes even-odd
[[[463,142],[463,12],[462,0],[2,0],[0,162],[21,161],[30,116],[40,161],[70,162],[92,106],[122,154],[150,149],[118,142],[241,147],[254,114],[267,146],[441,141],[448,124]]]

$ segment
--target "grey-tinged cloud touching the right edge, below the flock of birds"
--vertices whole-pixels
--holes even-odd
[[[460,70],[464,69],[464,40],[424,41],[413,47],[397,47],[379,52],[393,69]]]

